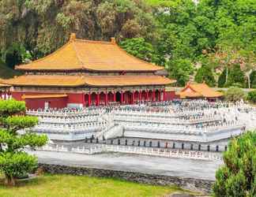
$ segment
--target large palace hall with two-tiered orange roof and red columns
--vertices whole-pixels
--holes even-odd
[[[16,69],[23,76],[3,80],[13,99],[28,109],[134,104],[173,99],[175,83],[164,68],[127,54],[116,43],[76,39],[54,53]]]

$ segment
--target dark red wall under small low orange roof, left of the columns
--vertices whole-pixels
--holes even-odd
[[[26,107],[30,110],[44,108],[44,103],[49,102],[50,108],[61,109],[66,107],[67,98],[52,98],[52,99],[25,99]]]

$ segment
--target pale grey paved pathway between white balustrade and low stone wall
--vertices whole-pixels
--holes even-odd
[[[59,165],[86,166],[128,172],[153,173],[174,177],[192,177],[214,180],[215,171],[222,164],[183,158],[160,158],[138,154],[73,154],[51,151],[33,151],[39,162]]]

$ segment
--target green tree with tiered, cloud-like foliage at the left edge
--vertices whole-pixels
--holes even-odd
[[[0,171],[9,185],[15,184],[16,177],[36,168],[36,157],[26,153],[24,148],[34,150],[47,143],[47,136],[38,136],[25,129],[35,126],[38,120],[24,113],[24,102],[0,100]]]

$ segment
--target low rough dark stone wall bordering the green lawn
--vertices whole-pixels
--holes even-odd
[[[111,177],[134,181],[141,184],[176,185],[181,188],[209,193],[213,180],[200,180],[185,177],[170,177],[158,174],[125,172],[112,169],[94,169],[83,166],[53,165],[40,163],[39,167],[46,173],[85,175],[90,177]]]

